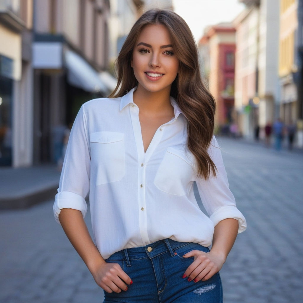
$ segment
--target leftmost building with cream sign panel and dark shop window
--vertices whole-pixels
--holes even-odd
[[[32,163],[32,6],[0,1],[0,166]]]

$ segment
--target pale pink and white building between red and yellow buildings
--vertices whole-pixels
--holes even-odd
[[[246,10],[234,20],[236,31],[235,105],[245,137],[264,137],[278,115],[279,2],[241,0]]]

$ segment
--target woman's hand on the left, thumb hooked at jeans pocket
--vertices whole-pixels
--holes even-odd
[[[102,262],[92,273],[96,283],[106,292],[127,291],[132,279],[122,270],[118,263]]]

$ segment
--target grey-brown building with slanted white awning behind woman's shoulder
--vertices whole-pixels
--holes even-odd
[[[34,6],[34,163],[62,158],[64,130],[80,106],[110,90],[109,2],[41,0]]]

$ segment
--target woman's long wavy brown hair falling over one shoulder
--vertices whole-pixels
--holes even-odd
[[[171,96],[188,120],[187,146],[198,163],[198,176],[208,179],[211,174],[216,175],[215,164],[207,152],[214,132],[215,100],[201,80],[195,39],[179,15],[151,9],[137,20],[118,55],[118,84],[109,97],[122,97],[138,84],[131,67],[133,49],[142,28],[150,24],[165,25],[171,35],[174,52],[180,60]]]

